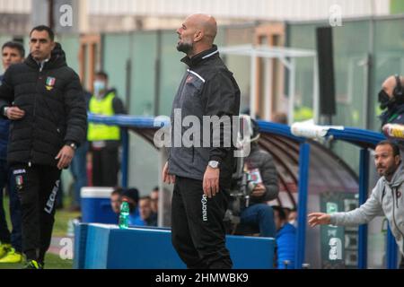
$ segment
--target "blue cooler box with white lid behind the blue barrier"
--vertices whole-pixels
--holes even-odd
[[[82,221],[118,224],[118,215],[110,207],[112,187],[82,187]]]

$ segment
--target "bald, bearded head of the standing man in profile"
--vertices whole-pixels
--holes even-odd
[[[193,57],[212,48],[217,33],[217,24],[214,17],[195,13],[185,19],[185,22],[177,29],[177,33],[180,36],[177,49],[189,57]]]

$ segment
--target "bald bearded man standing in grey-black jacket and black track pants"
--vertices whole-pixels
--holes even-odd
[[[172,144],[189,129],[175,121],[176,112],[180,111],[181,122],[184,117],[193,116],[202,124],[203,117],[238,116],[240,109],[239,87],[213,45],[215,19],[203,14],[190,15],[177,33],[180,35],[177,49],[187,54],[181,61],[189,69],[172,104]],[[176,134],[178,126],[180,133]],[[212,126],[208,128],[212,134]],[[175,181],[172,244],[189,268],[231,268],[223,219],[235,163],[234,148],[223,144],[214,147],[212,141],[204,147],[202,129],[201,125],[200,139],[193,138],[192,146],[182,143],[181,147],[171,147],[162,171],[165,182]],[[221,140],[227,132],[221,126]]]

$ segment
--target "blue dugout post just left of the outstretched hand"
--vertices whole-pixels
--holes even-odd
[[[294,268],[302,269],[306,243],[307,196],[310,169],[310,144],[301,143],[299,151],[299,187],[297,205],[297,236]]]

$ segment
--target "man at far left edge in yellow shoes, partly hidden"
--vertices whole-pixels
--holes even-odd
[[[6,42],[2,47],[2,61],[4,71],[10,65],[22,63],[24,48],[17,42]],[[3,75],[0,75],[0,85]],[[4,116],[4,115],[2,115]],[[13,174],[7,164],[7,146],[10,120],[0,117],[0,263],[18,263],[22,261],[22,218],[21,204],[15,189]],[[5,221],[3,207],[3,190],[8,187],[10,196],[10,217],[13,230],[10,233]]]

